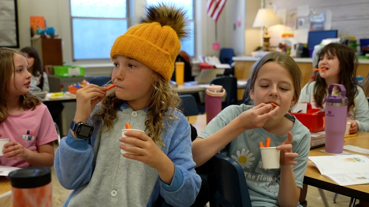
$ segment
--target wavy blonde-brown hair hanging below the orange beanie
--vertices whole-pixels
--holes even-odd
[[[173,123],[179,119],[180,110],[177,108],[180,104],[180,98],[177,92],[160,75],[158,80],[153,80],[154,92],[147,106],[147,120],[145,121],[145,132],[152,138],[155,144],[164,146],[161,139],[163,131],[166,131],[165,124]],[[155,79],[155,76],[154,78]],[[96,113],[92,115],[92,120],[98,118],[101,121],[101,127],[107,126],[107,131],[113,127],[113,120],[117,117],[117,110],[124,103],[124,100],[118,99],[115,91],[107,92],[107,95],[101,101]],[[177,111],[177,112],[176,112]]]

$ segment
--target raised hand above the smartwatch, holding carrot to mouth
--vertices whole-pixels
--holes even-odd
[[[77,90],[77,107],[74,122],[87,123],[87,120],[96,104],[103,100],[105,95],[106,88],[94,84],[86,85],[85,87]]]

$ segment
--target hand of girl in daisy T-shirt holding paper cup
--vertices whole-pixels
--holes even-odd
[[[280,158],[279,164],[283,165],[296,165],[297,161],[294,161],[294,158],[299,157],[299,154],[292,152],[292,141],[293,136],[292,133],[288,132],[288,138],[281,145],[277,146],[277,150],[280,150]]]

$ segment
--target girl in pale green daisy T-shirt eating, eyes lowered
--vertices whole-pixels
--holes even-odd
[[[310,131],[287,112],[299,100],[301,71],[280,52],[263,56],[251,71],[245,102],[254,106],[232,105],[220,112],[193,141],[193,159],[200,166],[224,148],[244,169],[253,207],[299,206]],[[280,169],[262,168],[259,142],[267,137],[280,150]]]

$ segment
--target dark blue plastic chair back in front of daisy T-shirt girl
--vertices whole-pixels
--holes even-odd
[[[222,154],[208,162],[210,207],[251,207],[244,171],[238,162]]]

